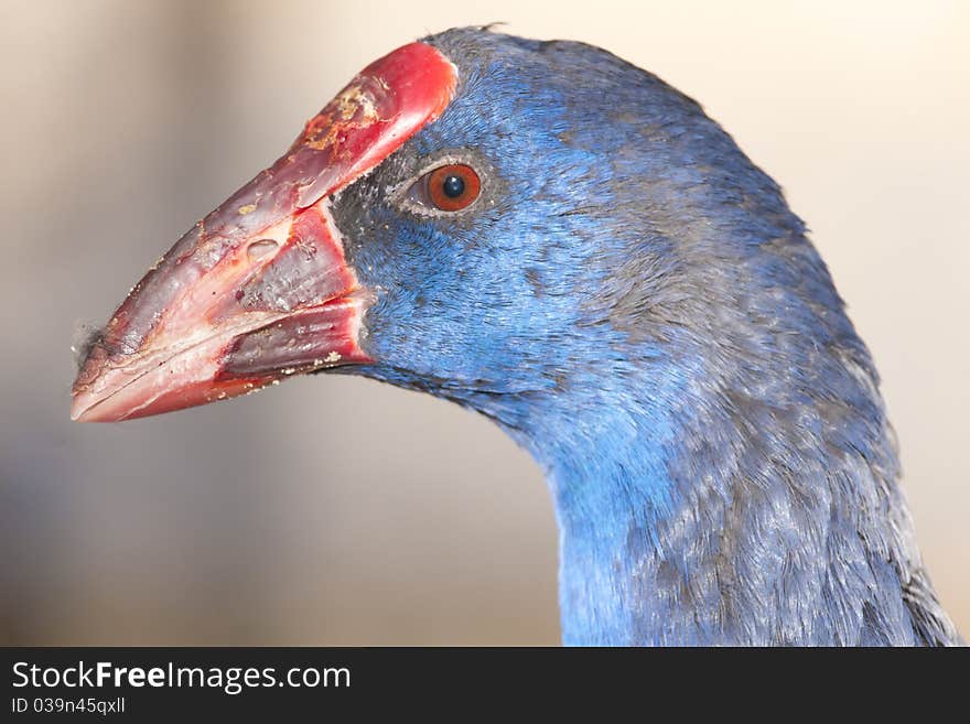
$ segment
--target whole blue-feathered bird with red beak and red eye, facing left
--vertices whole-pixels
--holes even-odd
[[[565,645],[962,644],[806,224],[593,45],[456,28],[375,61],[82,357],[79,421],[327,371],[486,415],[548,480]]]

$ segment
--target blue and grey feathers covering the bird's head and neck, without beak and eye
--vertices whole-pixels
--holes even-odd
[[[951,644],[865,346],[778,186],[615,56],[463,29],[442,117],[333,203],[377,301],[343,371],[546,471],[568,644]],[[401,184],[473,165],[482,197]]]

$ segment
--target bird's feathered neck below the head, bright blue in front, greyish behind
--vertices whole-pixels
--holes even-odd
[[[832,352],[800,396],[780,370],[666,364],[525,417],[489,402],[547,473],[564,642],[912,644],[918,554],[867,357]]]

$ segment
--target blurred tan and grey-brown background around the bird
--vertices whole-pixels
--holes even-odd
[[[67,418],[77,321],[364,65],[491,21],[659,74],[786,188],[873,349],[970,634],[970,3],[2,0],[0,642],[559,640],[545,483],[484,419],[332,377]]]

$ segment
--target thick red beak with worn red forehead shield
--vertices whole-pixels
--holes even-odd
[[[373,361],[360,347],[370,294],[330,197],[441,115],[455,84],[454,66],[423,43],[358,74],[136,284],[74,382],[72,419],[158,414]]]

